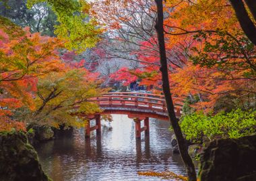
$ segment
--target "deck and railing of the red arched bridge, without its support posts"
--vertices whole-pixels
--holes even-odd
[[[152,117],[168,120],[164,95],[137,92],[106,93],[94,99],[104,114],[125,114],[129,117]],[[183,103],[174,98],[177,117],[181,116]]]

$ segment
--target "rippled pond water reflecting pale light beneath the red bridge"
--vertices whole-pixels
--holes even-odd
[[[93,122],[92,122],[93,124]],[[179,155],[172,154],[168,121],[150,119],[150,139],[135,139],[135,123],[126,115],[102,121],[102,136],[84,138],[84,129],[75,129],[36,147],[44,171],[54,181],[63,180],[161,180],[138,176],[137,172],[172,171],[185,174]]]

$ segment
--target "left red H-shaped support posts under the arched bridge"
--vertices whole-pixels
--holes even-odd
[[[96,125],[90,127],[90,121],[95,119]],[[100,135],[101,133],[101,124],[100,124],[100,114],[94,115],[93,117],[88,117],[88,122],[85,127],[85,137],[90,138],[90,132],[96,130],[96,135]]]

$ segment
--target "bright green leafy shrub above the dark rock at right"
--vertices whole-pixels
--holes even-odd
[[[193,113],[183,117],[181,129],[193,143],[217,138],[238,138],[256,131],[256,111],[236,109],[230,113],[204,115]]]

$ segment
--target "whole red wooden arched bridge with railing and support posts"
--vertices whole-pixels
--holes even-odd
[[[117,92],[106,93],[101,97],[91,99],[91,101],[98,103],[102,112],[90,117],[90,119],[96,119],[96,125],[94,127],[90,127],[89,121],[88,126],[86,127],[86,137],[90,137],[90,131],[95,129],[97,134],[100,134],[100,115],[128,115],[129,118],[135,121],[137,138],[141,136],[142,131],[145,131],[146,135],[149,134],[149,117],[168,121],[164,95],[137,92]],[[183,100],[173,98],[173,101],[175,113],[177,117],[180,117]],[[143,127],[141,127],[142,120],[144,120]]]

